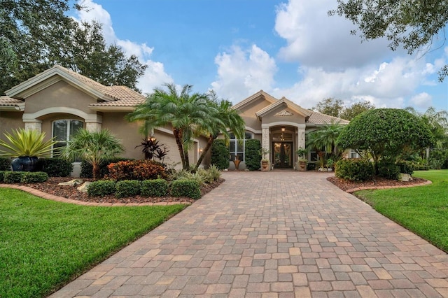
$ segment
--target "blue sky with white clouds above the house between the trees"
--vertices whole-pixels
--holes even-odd
[[[83,0],[76,20],[103,25],[107,43],[147,64],[137,87],[165,83],[215,90],[234,104],[259,90],[304,108],[332,97],[349,107],[430,106],[448,110],[448,43],[395,52],[388,41],[363,41],[354,25],[328,16],[336,0]]]

